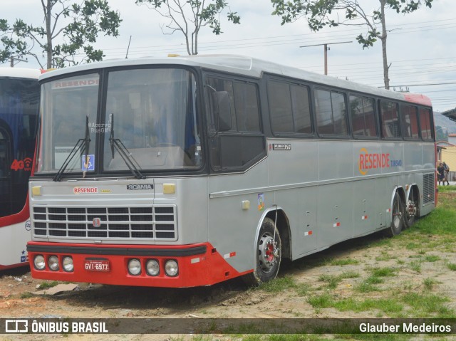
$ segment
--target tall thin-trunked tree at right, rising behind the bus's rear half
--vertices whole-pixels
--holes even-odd
[[[280,16],[282,25],[305,17],[309,27],[318,31],[325,26],[364,26],[366,33],[356,37],[363,48],[373,46],[380,39],[383,53],[383,78],[385,88],[390,88],[388,76],[388,58],[386,38],[388,30],[385,23],[385,9],[392,9],[396,14],[408,14],[416,11],[423,4],[432,6],[432,0],[378,0],[379,7],[367,11],[366,2],[358,0],[271,0],[273,15]],[[363,3],[363,4],[361,4]]]

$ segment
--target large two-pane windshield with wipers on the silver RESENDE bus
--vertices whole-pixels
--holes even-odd
[[[43,85],[37,173],[58,172],[77,142],[87,140],[87,126],[88,153],[82,147],[66,173],[198,169],[195,76],[182,68],[117,69],[106,75],[102,98],[98,74]],[[98,107],[103,108],[101,115]]]

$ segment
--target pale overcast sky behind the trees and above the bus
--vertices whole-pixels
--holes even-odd
[[[135,0],[108,0],[120,12],[123,22],[118,38],[99,38],[97,48],[103,49],[105,59],[125,58],[131,38],[128,58],[186,54],[184,37],[179,32],[164,35],[166,19]],[[304,19],[281,26],[281,19],[271,16],[270,0],[227,0],[232,11],[241,16],[241,24],[222,21],[223,33],[212,34],[204,28],[199,34],[199,53],[230,53],[252,56],[323,73],[323,46],[329,45],[328,75],[373,86],[383,86],[380,41],[365,49],[355,37],[363,28],[339,26],[311,32]],[[378,0],[360,0],[364,9],[378,8]],[[43,21],[39,0],[1,0],[0,19],[41,25]],[[435,111],[456,107],[456,1],[434,0],[432,9],[423,7],[413,14],[395,14],[389,10],[387,26],[390,85],[395,90],[410,90],[431,98]],[[353,41],[352,43],[342,43]],[[36,68],[29,63],[16,65]],[[8,65],[0,65],[7,67]]]

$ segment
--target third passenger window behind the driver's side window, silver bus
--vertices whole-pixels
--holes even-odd
[[[350,96],[351,124],[356,137],[378,136],[375,127],[375,107],[372,98]]]

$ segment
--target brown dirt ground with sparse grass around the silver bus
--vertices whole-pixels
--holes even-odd
[[[428,236],[438,238],[437,236]],[[284,262],[279,278],[291,278],[294,283],[312,290],[297,295],[296,290],[274,293],[252,289],[242,280],[229,280],[210,287],[187,289],[136,288],[113,285],[77,283],[76,290],[58,295],[37,295],[43,280],[31,278],[28,268],[0,273],[0,316],[3,318],[379,318],[388,317],[377,310],[361,313],[341,312],[334,308],[315,309],[309,295],[329,289],[322,276],[338,276],[348,271],[359,273],[346,278],[331,289],[338,298],[378,297],[388,290],[407,286],[423,291],[426,278],[432,278],[432,293],[449,298],[447,307],[456,310],[456,273],[447,263],[456,263],[454,248],[410,248],[404,241],[373,244],[383,240],[373,234],[340,243],[326,251]],[[425,261],[423,257],[434,256]],[[328,260],[350,260],[345,265]],[[410,266],[420,261],[420,271]],[[343,262],[341,262],[343,263]],[[397,268],[388,278],[385,291],[359,293],[353,288],[366,280],[372,268]],[[28,294],[30,293],[30,294]],[[407,317],[407,316],[405,316]],[[23,335],[21,338],[0,335],[0,340],[170,340],[174,335]],[[215,337],[217,339],[217,337]]]

